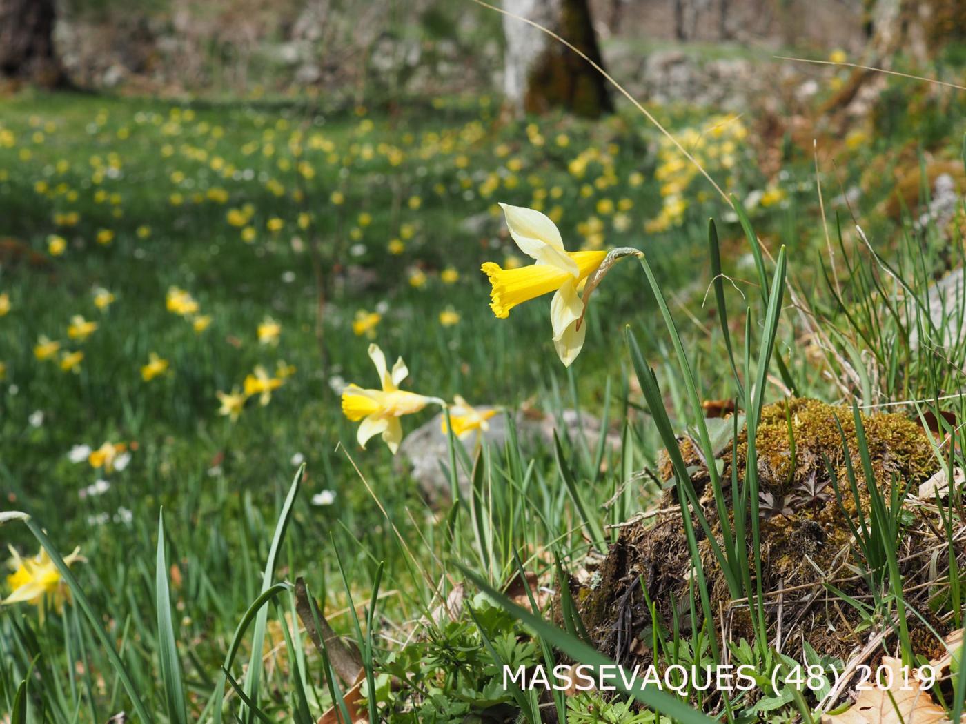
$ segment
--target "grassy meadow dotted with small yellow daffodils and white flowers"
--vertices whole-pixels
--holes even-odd
[[[766,177],[752,119],[700,108],[654,110],[724,197],[632,108],[599,123],[507,122],[486,97],[350,108],[312,97],[4,98],[0,533],[24,559],[39,538],[82,558],[69,584],[50,573],[54,595],[40,606],[0,610],[3,720],[818,721],[814,691],[766,687],[788,661],[769,647],[763,608],[731,641],[760,672],[753,694],[645,692],[633,706],[598,692],[540,698],[504,689],[499,670],[591,660],[582,599],[564,581],[593,578],[622,530],[611,525],[668,494],[696,506],[701,494],[684,481],[701,461],[670,455],[680,493],[659,473],[675,435],[689,435],[705,465],[707,453],[730,459],[732,440],[738,454],[730,425],[705,421],[706,401],[737,400],[750,429],[781,400],[846,405],[856,469],[842,466],[840,494],[830,487],[823,505],[848,498],[857,477],[882,483],[853,400],[869,415],[922,401],[889,409],[952,420],[939,423],[949,440],[928,438],[930,459],[933,470],[961,464],[963,404],[937,399],[961,387],[966,352],[941,330],[962,300],[932,320],[927,291],[961,260],[961,203],[952,237],[911,220],[931,193],[928,164],[961,172],[961,98],[891,83],[919,116],[896,120],[889,106],[825,138],[824,217],[809,147],[787,134],[781,171]],[[887,212],[888,180],[903,174],[926,181],[912,209]],[[546,299],[508,320],[490,309],[480,265],[530,261],[497,202],[546,213],[569,251],[644,252],[646,268],[624,259],[594,292],[569,368]],[[508,412],[580,408],[621,444],[564,434],[533,446],[511,434],[479,459],[454,444],[440,462],[471,469],[471,490],[426,500],[401,457],[378,435],[360,448],[343,414],[348,383],[378,388],[373,343],[390,365],[405,359],[403,389]],[[438,410],[403,417],[404,431]],[[740,455],[753,460],[754,435],[742,434]],[[728,529],[715,529],[723,550],[701,555],[728,571],[732,594],[754,600],[757,588],[760,600],[754,514],[775,501],[759,500],[753,466],[726,479],[731,461],[705,466],[714,483],[698,510],[741,500],[753,524],[712,521]],[[795,464],[793,442],[789,480]],[[962,626],[962,498],[953,489],[921,515],[903,507],[915,487],[886,484],[862,498],[875,514],[856,523],[849,565],[867,591],[848,618],[860,633],[889,631],[883,652],[921,664]],[[687,536],[694,552],[702,519]],[[895,549],[927,528],[940,551],[930,585],[945,593],[923,602],[903,594]],[[357,647],[361,699],[338,704],[355,681],[333,644],[313,644],[300,577],[319,601],[316,626],[326,619]],[[8,583],[4,596],[15,573]],[[652,609],[655,660],[721,660],[702,615],[711,601],[692,592],[681,621],[659,625]],[[849,599],[829,595],[839,594]],[[440,613],[447,599],[451,615]],[[906,621],[916,628],[921,604],[935,636],[914,651]],[[557,628],[528,620],[533,609]],[[811,653],[829,679],[847,663]],[[951,718],[963,703],[955,676],[937,697]]]

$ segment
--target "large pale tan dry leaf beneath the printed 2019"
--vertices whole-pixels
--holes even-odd
[[[908,686],[902,688],[906,682],[899,659],[885,656],[882,664],[892,670],[892,688],[867,682],[868,688],[859,692],[855,704],[840,714],[823,715],[822,724],[950,724],[946,710],[933,701],[915,676],[910,675]]]

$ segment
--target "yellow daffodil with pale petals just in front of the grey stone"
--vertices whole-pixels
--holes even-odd
[[[399,389],[399,383],[410,374],[402,357],[396,360],[391,373],[386,369],[383,350],[377,345],[369,345],[369,358],[376,365],[383,389],[349,385],[342,392],[342,412],[353,422],[361,420],[362,424],[355,435],[359,445],[364,448],[371,437],[382,434],[385,444],[395,455],[403,440],[403,426],[399,418],[418,412],[427,404],[441,401]]]

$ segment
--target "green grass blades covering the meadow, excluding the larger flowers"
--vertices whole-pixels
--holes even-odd
[[[314,721],[352,682],[333,675],[339,654],[330,644],[301,634],[298,577],[319,599],[318,610],[305,609],[315,630],[325,617],[355,642],[366,690],[375,692],[364,707],[370,720],[390,712],[443,722],[497,707],[535,711],[529,694],[496,687],[495,672],[504,662],[589,655],[576,604],[564,605],[563,631],[477,592],[504,587],[521,566],[562,581],[595,544],[604,549],[616,536],[605,525],[647,508],[660,492],[651,482],[625,484],[646,480],[640,471],[653,467],[662,447],[676,451],[675,433],[686,425],[696,426],[714,457],[703,400],[739,397],[753,427],[762,404],[780,396],[769,375],[800,395],[837,397],[824,368],[796,348],[796,322],[782,309],[786,287],[807,296],[834,330],[837,360],[885,365],[881,349],[895,345],[898,362],[875,376],[875,394],[871,381],[856,390],[863,402],[958,389],[951,365],[910,344],[923,316],[900,301],[881,265],[892,259],[903,291],[921,296],[939,265],[938,241],[925,239],[918,267],[911,266],[918,239],[900,241],[881,260],[843,247],[853,264],[843,276],[847,298],[831,294],[816,261],[824,236],[810,171],[794,156],[781,204],[752,209],[752,219],[732,216],[692,181],[682,191],[680,225],[648,233],[646,222],[662,205],[654,175],[665,159],[655,153],[653,129],[626,113],[599,125],[563,117],[502,125],[495,102],[466,98],[384,113],[308,101],[192,106],[64,95],[14,97],[4,110],[0,237],[9,241],[0,293],[9,294],[11,309],[0,318],[0,492],[6,509],[31,518],[0,532],[22,554],[33,555],[39,540],[55,562],[57,551],[74,545],[87,559],[70,570],[72,603],[47,611],[43,624],[27,605],[0,612],[0,703],[14,720],[25,712],[27,720],[104,721],[128,710],[145,721]],[[674,130],[705,127],[694,109],[661,115]],[[591,158],[577,173],[570,164],[587,149],[612,160]],[[753,158],[743,144],[735,153]],[[305,163],[311,174],[299,173]],[[766,185],[747,166],[727,184],[740,199]],[[333,194],[342,202],[333,203]],[[615,221],[608,204],[625,199],[626,218]],[[646,252],[644,273],[617,265],[594,293],[587,342],[569,371],[554,354],[546,300],[515,309],[510,320],[495,319],[488,307],[479,265],[516,253],[492,212],[497,201],[559,207],[568,249],[594,242],[587,224],[598,218],[605,247]],[[248,242],[228,220],[230,209],[245,205],[252,213],[244,226],[254,229]],[[58,223],[71,211],[74,225]],[[709,215],[718,219],[710,258]],[[271,231],[276,218],[281,229]],[[757,253],[752,224],[768,237],[777,264]],[[139,235],[143,226],[148,235]],[[412,235],[404,238],[407,229]],[[96,241],[99,230],[113,232],[109,244]],[[67,240],[62,256],[47,254],[53,234]],[[405,250],[393,255],[388,244],[397,238]],[[786,246],[781,254],[775,239]],[[731,251],[721,259],[725,244]],[[743,265],[750,252],[751,265]],[[722,266],[744,297],[717,276]],[[457,283],[443,281],[447,268],[458,272]],[[426,276],[420,287],[411,284],[415,269]],[[701,307],[713,276],[718,319]],[[116,297],[105,310],[94,304],[97,287]],[[171,287],[211,316],[206,330],[196,333],[166,309]],[[469,494],[427,505],[378,438],[358,449],[355,425],[340,411],[342,383],[376,385],[366,357],[372,340],[355,335],[352,322],[357,311],[377,308],[383,319],[374,339],[390,363],[397,355],[407,361],[406,389],[510,409],[534,403],[551,413],[581,406],[611,420],[621,450],[592,450],[580,439],[532,450],[511,431],[504,449],[476,460],[454,449],[442,463],[472,468]],[[460,320],[443,326],[448,308]],[[880,320],[875,312],[883,308],[892,313]],[[73,315],[99,324],[83,342],[67,335]],[[258,341],[256,327],[267,316],[281,325],[277,346]],[[625,336],[627,324],[634,331]],[[82,350],[79,372],[38,360],[41,335]],[[170,368],[146,381],[141,366],[152,352]],[[282,360],[295,372],[268,404],[249,400],[235,423],[217,414],[218,391],[241,385],[256,365],[271,372]],[[639,413],[632,376],[651,416]],[[404,418],[404,427],[431,414]],[[96,449],[105,440],[128,445],[124,470],[105,473],[68,458],[75,445]],[[674,461],[681,504],[696,506],[688,471]],[[109,489],[81,495],[99,478]],[[731,491],[740,491],[754,512],[756,486],[753,475],[715,479],[715,504],[724,509]],[[336,493],[334,504],[312,505],[324,489]],[[602,511],[600,502],[618,490],[618,502]],[[877,519],[888,528],[870,533],[881,537],[880,547],[899,533],[890,502],[877,501]],[[947,513],[952,540],[961,515],[952,503]],[[732,595],[760,601],[754,571],[761,561],[746,554],[756,524],[752,515],[746,531],[736,516],[717,552]],[[700,535],[693,528],[689,536],[696,558]],[[891,598],[877,602],[892,611],[897,599],[904,627],[894,559]],[[426,625],[440,599],[459,596],[464,585],[461,612]],[[952,589],[958,597],[958,577]],[[704,618],[714,618],[702,593]],[[679,641],[674,627],[673,641],[659,642],[673,652],[668,660],[722,654],[697,623],[699,606],[691,609],[694,638]],[[753,661],[777,665],[760,609],[756,625]],[[660,638],[657,627],[654,635]],[[253,649],[270,653],[243,669]],[[689,702],[628,693],[678,720],[703,720]],[[573,721],[582,721],[582,706],[554,702]],[[795,706],[806,705],[789,695],[786,710]],[[961,695],[952,706],[961,707]]]

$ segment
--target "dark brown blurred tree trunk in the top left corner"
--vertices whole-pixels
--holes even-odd
[[[0,0],[0,76],[53,88],[67,83],[54,48],[55,0]]]

